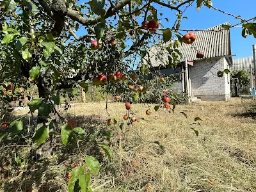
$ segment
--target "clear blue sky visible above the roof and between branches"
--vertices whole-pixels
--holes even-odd
[[[79,3],[83,2],[85,3],[87,1],[83,0]],[[250,19],[252,17],[256,17],[256,0],[212,0],[212,3],[213,6],[220,10],[232,13],[236,16],[241,15],[243,19]],[[169,22],[166,22],[165,19],[161,20],[164,28],[172,28],[173,22],[176,19],[176,16],[174,14],[177,12],[171,12],[168,8],[162,9],[160,6],[156,6],[156,8],[158,13],[163,13],[162,18],[167,17],[169,19]],[[239,20],[234,19],[234,17],[225,15],[213,9],[210,10],[209,8],[204,6],[200,9],[199,12],[197,12],[196,4],[189,7],[183,16],[188,17],[188,19],[182,20],[180,29],[207,29],[211,28],[212,26],[223,24],[225,22],[230,22],[230,24],[237,24],[239,22]],[[252,44],[256,44],[256,38],[254,38],[253,36],[243,38],[243,36],[241,36],[241,31],[242,28],[240,27],[230,29],[231,51],[232,54],[236,54],[233,59],[252,56]],[[184,34],[185,32],[183,31],[182,33]],[[81,29],[77,32],[77,35],[83,34],[84,29]]]

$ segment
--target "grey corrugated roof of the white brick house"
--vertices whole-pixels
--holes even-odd
[[[193,47],[196,47],[199,52],[204,52],[206,58],[216,58],[231,55],[230,31],[225,30],[222,27],[222,24],[205,29],[205,31],[198,31],[195,34],[196,40],[193,45],[182,44],[179,47],[179,51],[182,54],[180,61],[184,61],[185,58],[187,58],[188,61],[198,60],[196,58],[197,51]],[[168,51],[160,51],[159,49],[161,49],[161,47],[150,47],[149,55],[153,67],[163,65],[163,61],[166,63],[168,62]],[[157,56],[157,54],[161,55]]]

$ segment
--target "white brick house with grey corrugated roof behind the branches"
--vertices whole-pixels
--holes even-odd
[[[230,31],[225,30],[221,24],[195,34],[196,40],[193,45],[182,44],[178,48],[179,51],[176,50],[182,55],[177,67],[167,68],[166,65],[163,65],[163,63],[172,63],[173,53],[172,51],[163,51],[164,49],[159,46],[150,47],[145,60],[149,58],[154,70],[158,70],[166,76],[180,73],[180,81],[175,83],[178,93],[187,92],[191,98],[197,97],[201,100],[230,99],[229,73],[224,73],[223,77],[217,75],[218,71],[229,69],[232,66]],[[207,60],[196,58],[198,51],[203,52]]]

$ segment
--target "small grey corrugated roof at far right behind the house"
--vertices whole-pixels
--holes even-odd
[[[230,67],[230,71],[234,70],[246,70],[250,72],[250,68],[252,66],[252,70],[254,70],[253,66],[253,56],[247,58],[239,58],[232,61],[233,65]]]

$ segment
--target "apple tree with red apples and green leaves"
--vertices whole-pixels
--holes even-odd
[[[28,90],[37,86],[38,97],[27,98],[31,113],[38,111],[37,124],[40,126],[35,133],[28,133],[27,138],[32,138],[33,143],[40,146],[47,140],[49,132],[58,132],[59,119],[63,122],[60,130],[63,145],[68,145],[76,136],[79,143],[79,140],[84,139],[84,130],[77,127],[74,120],[67,121],[58,113],[56,106],[60,104],[61,94],[68,93],[72,97],[77,86],[87,92],[88,86],[93,84],[102,86],[107,93],[116,93],[118,89],[121,92],[134,90],[131,93],[134,99],[129,102],[143,97],[147,92],[147,81],[142,81],[141,77],[154,70],[147,59],[148,48],[161,45],[170,52],[171,57],[170,62],[163,65],[175,67],[180,58],[179,44],[193,44],[196,40],[193,32],[182,37],[181,32],[188,30],[180,29],[187,8],[193,4],[198,10],[202,6],[218,10],[211,0],[92,0],[84,3],[73,0],[1,1],[1,102],[6,105],[15,100],[22,102],[26,95],[20,88]],[[175,15],[172,24],[163,26],[161,20],[168,21],[170,18],[164,16],[161,10],[168,10],[168,13]],[[243,24],[244,37],[256,37],[256,17],[242,19],[223,13],[238,19],[238,24]],[[224,27],[229,29],[236,25]],[[77,36],[77,31],[83,35]],[[204,58],[204,53],[199,53],[198,57]],[[161,89],[159,84],[164,83],[165,79],[157,72],[154,76],[156,87]],[[159,90],[158,94],[159,106],[171,112],[175,106],[169,103],[170,98],[164,97],[166,93],[163,90]],[[115,99],[122,98],[116,96]],[[123,101],[129,111],[131,104],[127,100]],[[155,108],[156,111],[159,106]],[[151,113],[147,109],[146,114]],[[132,124],[136,116],[126,115],[124,119]],[[110,119],[107,124],[116,121]],[[11,124],[2,124],[2,127],[8,129],[4,129],[6,131],[1,134],[0,141],[19,134],[23,124],[19,119]],[[112,158],[108,145],[97,145],[107,152],[109,159]],[[90,177],[91,174],[97,175],[99,162],[88,156],[84,164],[90,171],[85,171],[84,166],[77,166],[68,183],[69,191],[75,188],[91,191]]]

